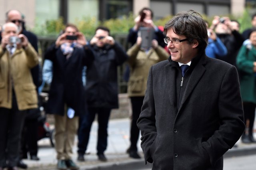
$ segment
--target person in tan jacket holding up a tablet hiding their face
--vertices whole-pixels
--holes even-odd
[[[132,103],[132,122],[130,128],[131,145],[127,152],[132,158],[140,158],[137,152],[140,130],[136,123],[140,116],[140,110],[146,91],[148,71],[152,65],[168,59],[169,56],[166,50],[158,45],[156,40],[152,40],[152,47],[150,47],[150,49],[143,49],[141,43],[142,38],[138,37],[136,43],[127,51],[129,56],[128,64],[130,66],[128,95]]]

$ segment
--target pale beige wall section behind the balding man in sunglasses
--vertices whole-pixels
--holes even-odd
[[[5,23],[5,13],[8,10],[19,10],[25,15],[26,25],[34,26],[36,0],[0,0],[0,25]]]

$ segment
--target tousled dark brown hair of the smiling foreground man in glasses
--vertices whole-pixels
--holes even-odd
[[[184,35],[189,43],[197,40],[199,45],[197,48],[205,49],[208,44],[208,35],[206,22],[202,16],[194,10],[180,12],[164,25],[164,35],[167,30],[172,28],[177,35]]]

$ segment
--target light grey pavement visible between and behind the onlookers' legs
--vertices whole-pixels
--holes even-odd
[[[88,154],[85,155],[86,161],[77,161],[77,138],[73,147],[73,160],[80,166],[80,170],[139,170],[152,167],[152,164],[145,165],[142,149],[140,148],[140,140],[138,141],[138,152],[142,156],[141,159],[133,159],[126,154],[126,149],[130,145],[129,141],[129,128],[130,119],[110,119],[108,126],[108,147],[105,155],[108,158],[107,162],[101,162],[96,155],[96,142],[97,142],[97,122],[94,121],[90,140],[88,144]],[[254,133],[256,137],[256,133]],[[24,159],[23,161],[28,164],[28,170],[56,170],[56,152],[50,145],[49,138],[43,138],[38,141],[39,161]],[[238,140],[236,147],[228,150],[224,158],[233,156],[245,156],[248,154],[256,154],[255,144],[243,144]],[[225,162],[225,160],[224,160]]]

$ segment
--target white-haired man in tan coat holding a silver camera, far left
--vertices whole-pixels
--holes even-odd
[[[38,54],[18,27],[2,27],[0,45],[0,170],[17,170],[20,135],[27,109],[37,108],[38,98],[30,69]],[[8,163],[6,165],[6,162]]]

